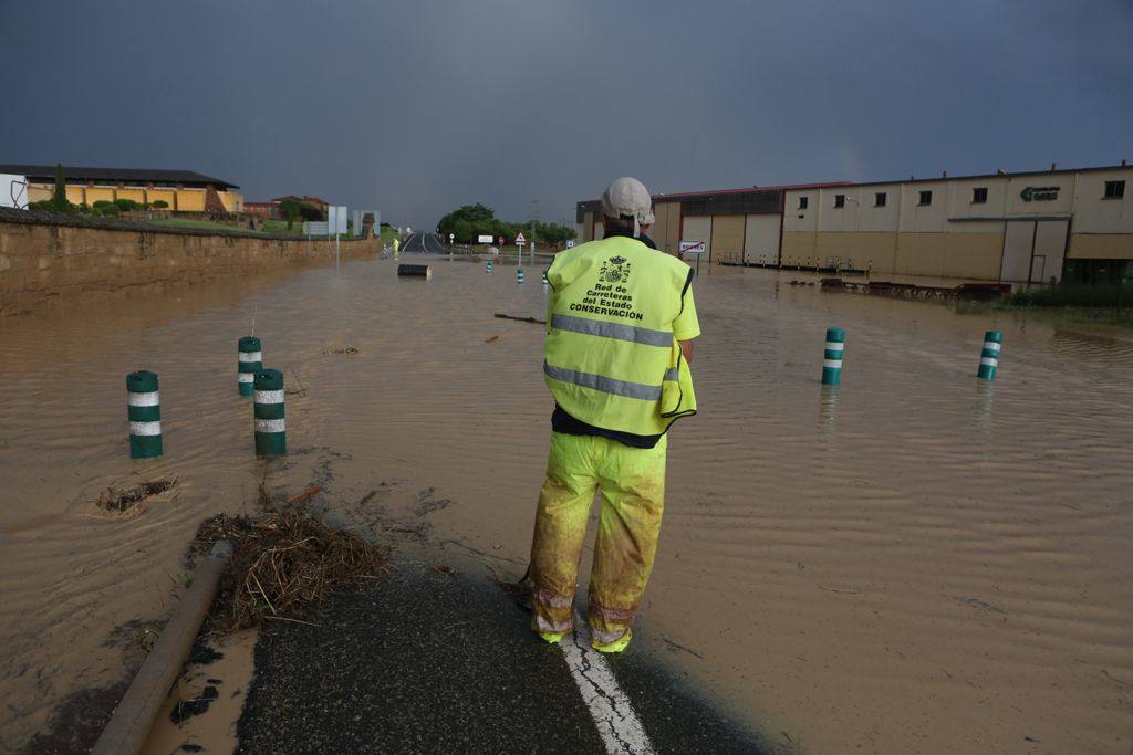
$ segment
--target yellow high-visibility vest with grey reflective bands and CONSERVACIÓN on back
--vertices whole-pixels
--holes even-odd
[[[648,436],[696,413],[692,376],[673,336],[690,276],[676,257],[627,237],[555,256],[543,371],[568,414]]]

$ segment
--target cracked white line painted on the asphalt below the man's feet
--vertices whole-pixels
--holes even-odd
[[[656,752],[606,659],[590,646],[590,629],[581,616],[576,616],[574,627],[574,632],[562,640],[563,658],[582,701],[590,709],[590,718],[606,752],[611,755]]]

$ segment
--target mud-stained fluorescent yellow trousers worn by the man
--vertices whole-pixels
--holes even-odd
[[[622,637],[645,592],[665,503],[666,437],[631,448],[597,436],[551,434],[547,479],[531,543],[531,628],[573,628],[572,608],[586,524],[602,491],[590,574],[589,620],[597,644]]]

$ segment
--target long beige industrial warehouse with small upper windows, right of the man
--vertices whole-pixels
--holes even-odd
[[[810,183],[655,195],[657,247],[706,261],[1050,283],[1121,275],[1133,259],[1133,168]],[[602,238],[598,200],[579,238]]]

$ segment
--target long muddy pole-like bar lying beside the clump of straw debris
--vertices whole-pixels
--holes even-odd
[[[220,541],[213,546],[207,560],[197,568],[193,586],[178,603],[169,624],[157,637],[91,750],[94,755],[134,755],[142,750],[150,735],[150,727],[201,629],[201,621],[212,604],[216,585],[231,556],[232,544]]]

